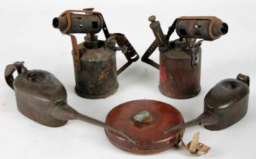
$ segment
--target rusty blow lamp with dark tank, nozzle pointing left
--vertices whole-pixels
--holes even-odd
[[[53,27],[71,37],[75,91],[81,97],[99,99],[112,95],[119,87],[117,76],[139,59],[125,35],[110,34],[102,14],[93,8],[67,10],[53,19]],[[101,30],[105,41],[98,40],[95,35]],[[77,44],[76,37],[72,35],[75,33],[86,34],[82,43]],[[115,46],[116,43],[119,47]],[[119,70],[115,57],[117,50],[121,50],[127,59]]]

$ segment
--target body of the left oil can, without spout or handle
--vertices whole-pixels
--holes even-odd
[[[59,102],[66,102],[66,90],[58,79],[44,70],[22,72],[14,79],[17,108],[26,117],[46,126],[59,127],[67,120],[51,115]]]

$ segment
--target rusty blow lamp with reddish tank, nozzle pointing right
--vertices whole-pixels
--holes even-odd
[[[201,47],[204,40],[213,41],[227,34],[228,25],[215,16],[182,16],[169,27],[164,35],[159,21],[150,16],[150,28],[155,41],[144,53],[142,61],[160,70],[159,90],[175,99],[196,96],[200,87]],[[169,41],[176,30],[179,39]],[[198,42],[196,41],[199,40]],[[149,59],[159,47],[160,64]]]

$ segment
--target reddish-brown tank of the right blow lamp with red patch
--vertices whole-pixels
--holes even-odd
[[[201,48],[198,49],[198,64],[192,66],[191,50],[174,49],[174,41],[170,41],[169,47],[167,51],[160,51],[159,90],[175,99],[196,96],[201,88]]]

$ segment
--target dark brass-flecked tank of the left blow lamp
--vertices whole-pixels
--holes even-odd
[[[118,89],[115,51],[106,50],[104,41],[97,48],[88,48],[86,42],[78,45],[81,70],[75,69],[75,90],[79,96],[100,99]]]

